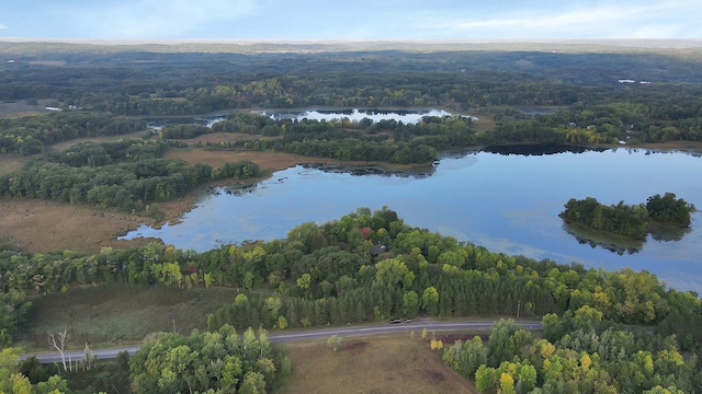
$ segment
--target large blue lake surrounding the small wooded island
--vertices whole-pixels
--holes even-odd
[[[127,237],[154,236],[181,248],[206,251],[247,240],[284,239],[303,222],[324,223],[387,206],[405,223],[492,252],[551,258],[614,270],[646,269],[679,290],[702,293],[702,212],[677,242],[647,240],[619,255],[579,243],[558,213],[570,198],[611,205],[646,202],[667,192],[702,208],[702,158],[681,152],[619,148],[542,154],[474,151],[441,158],[414,174],[295,166],[248,188],[205,194],[178,224],[148,227]],[[310,159],[314,161],[314,159]]]

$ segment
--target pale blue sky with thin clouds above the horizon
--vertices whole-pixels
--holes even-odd
[[[0,0],[0,38],[702,38],[700,0]]]

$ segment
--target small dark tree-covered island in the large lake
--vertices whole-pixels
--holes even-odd
[[[605,206],[592,197],[582,200],[571,198],[561,212],[568,223],[576,223],[589,229],[611,232],[636,240],[645,240],[649,231],[649,218],[668,225],[687,228],[690,225],[690,212],[694,207],[673,193],[663,197],[648,197],[646,205]]]

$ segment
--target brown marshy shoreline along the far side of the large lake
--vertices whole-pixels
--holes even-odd
[[[588,148],[642,149],[659,152],[686,152],[702,157],[702,142],[672,141],[646,146],[598,146]],[[135,230],[143,223],[158,227],[176,223],[195,206],[197,196],[208,187],[236,186],[259,183],[275,172],[295,165],[325,164],[335,167],[374,169],[388,172],[411,172],[422,167],[378,162],[343,162],[324,158],[306,158],[270,151],[212,152],[210,161],[251,160],[261,169],[261,175],[249,179],[219,182],[203,185],[185,196],[167,202],[154,204],[163,213],[161,220],[117,211],[99,209],[84,205],[70,205],[53,200],[0,198],[0,244],[5,247],[30,253],[71,250],[82,253],[98,253],[102,247],[128,247],[158,239],[117,240],[117,236]],[[195,157],[183,158],[194,162]],[[191,160],[188,160],[191,159]]]

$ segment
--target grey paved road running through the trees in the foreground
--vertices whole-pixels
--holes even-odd
[[[375,335],[375,334],[390,334],[397,332],[410,332],[410,331],[421,331],[427,328],[427,331],[431,332],[452,332],[452,331],[487,331],[489,329],[494,321],[480,321],[480,322],[434,322],[432,320],[420,320],[415,321],[412,323],[400,323],[400,324],[387,324],[387,325],[363,325],[363,326],[349,326],[349,327],[333,327],[333,328],[320,328],[314,331],[305,331],[305,332],[291,332],[291,333],[274,333],[269,334],[268,338],[272,343],[284,343],[284,341],[294,341],[294,340],[307,340],[307,339],[326,339],[332,335],[338,335],[340,337],[352,337],[352,336],[363,336],[363,335]],[[537,321],[518,321],[517,324],[521,325],[528,331],[541,331],[543,327],[541,326],[541,322]],[[137,350],[139,350],[139,346],[125,346],[118,348],[111,349],[99,349],[91,350],[93,356],[98,359],[112,359],[116,358],[117,354],[121,351],[127,351],[129,356],[134,355]],[[25,359],[27,357],[36,357],[42,363],[52,363],[52,362],[61,362],[61,357],[58,351],[46,352],[46,354],[32,354],[32,355],[22,355],[20,359]],[[82,360],[86,354],[82,350],[67,351],[66,360]]]

